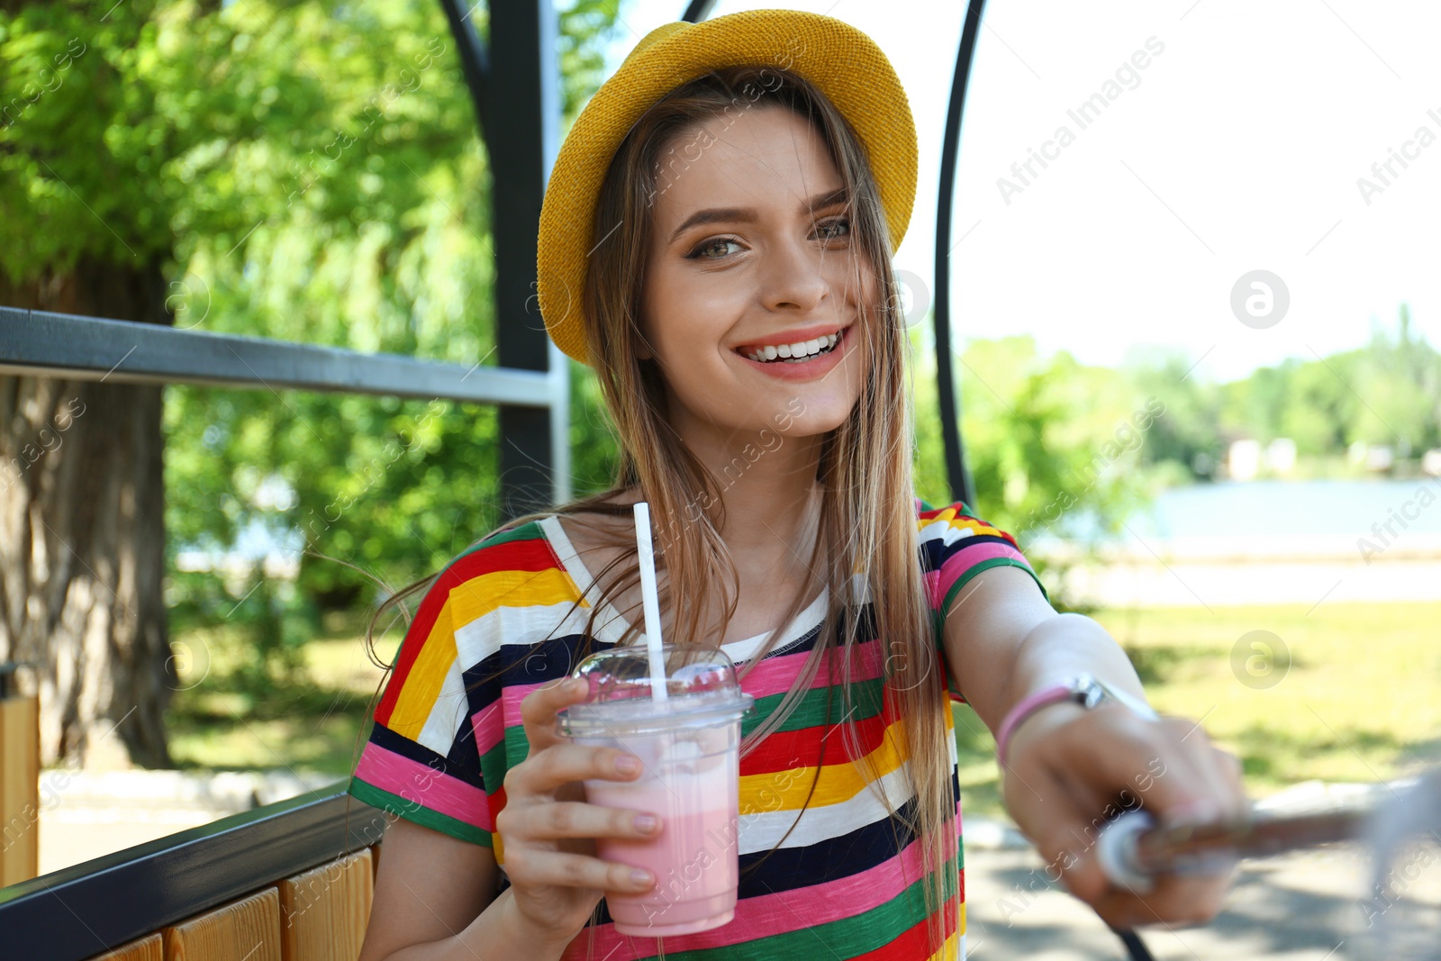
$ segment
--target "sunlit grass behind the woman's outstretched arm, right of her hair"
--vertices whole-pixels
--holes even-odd
[[[1308,607],[1094,617],[1125,647],[1159,710],[1205,719],[1212,741],[1242,759],[1252,797],[1310,779],[1392,779],[1441,759],[1441,604]],[[1290,651],[1290,669],[1268,689],[1244,684],[1231,667],[1232,648],[1257,630]],[[957,745],[965,810],[1000,814],[994,742],[968,707],[957,707]]]

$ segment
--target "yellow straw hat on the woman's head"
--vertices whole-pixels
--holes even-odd
[[[722,66],[784,68],[814,84],[860,137],[901,246],[915,205],[911,104],[891,61],[856,27],[816,13],[748,10],[666,23],[647,33],[601,85],[566,134],[540,207],[536,294],[556,346],[589,363],[581,316],[585,265],[595,246],[595,200],[611,157],[641,115],[674,88]]]

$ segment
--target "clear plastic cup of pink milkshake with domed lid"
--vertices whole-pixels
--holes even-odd
[[[589,681],[589,696],[559,713],[561,733],[575,743],[641,759],[637,779],[586,781],[585,795],[660,818],[651,839],[597,839],[604,860],[656,877],[647,893],[605,895],[615,931],[646,938],[709,931],[735,916],[741,718],[754,700],[723,651],[661,653],[667,700],[651,699],[646,648],[618,647],[581,661],[572,677]]]

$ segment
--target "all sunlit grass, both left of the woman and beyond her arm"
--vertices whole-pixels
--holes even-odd
[[[1104,609],[1095,618],[1131,654],[1151,702],[1205,719],[1236,752],[1254,797],[1308,779],[1376,781],[1441,759],[1441,604],[1323,604]],[[1270,689],[1241,683],[1231,651],[1241,635],[1271,631],[1291,654]],[[304,648],[305,667],[262,692],[233,683],[248,644],[242,630],[183,631],[197,656],[169,716],[182,766],[278,768],[347,774],[380,671],[363,647],[359,615],[329,615]],[[389,661],[395,625],[378,640]],[[209,674],[202,676],[209,661]],[[955,710],[965,810],[1001,813],[994,743],[968,707]]]

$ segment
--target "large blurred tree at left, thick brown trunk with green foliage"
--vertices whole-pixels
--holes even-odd
[[[561,13],[566,117],[614,20]],[[0,124],[0,304],[487,359],[491,187],[429,0],[4,4]],[[163,465],[161,396],[0,377],[0,657],[40,664],[48,762],[117,722],[169,762],[177,545],[258,522],[414,571],[494,519],[490,411],[171,388]],[[354,592],[313,560],[305,588]]]

